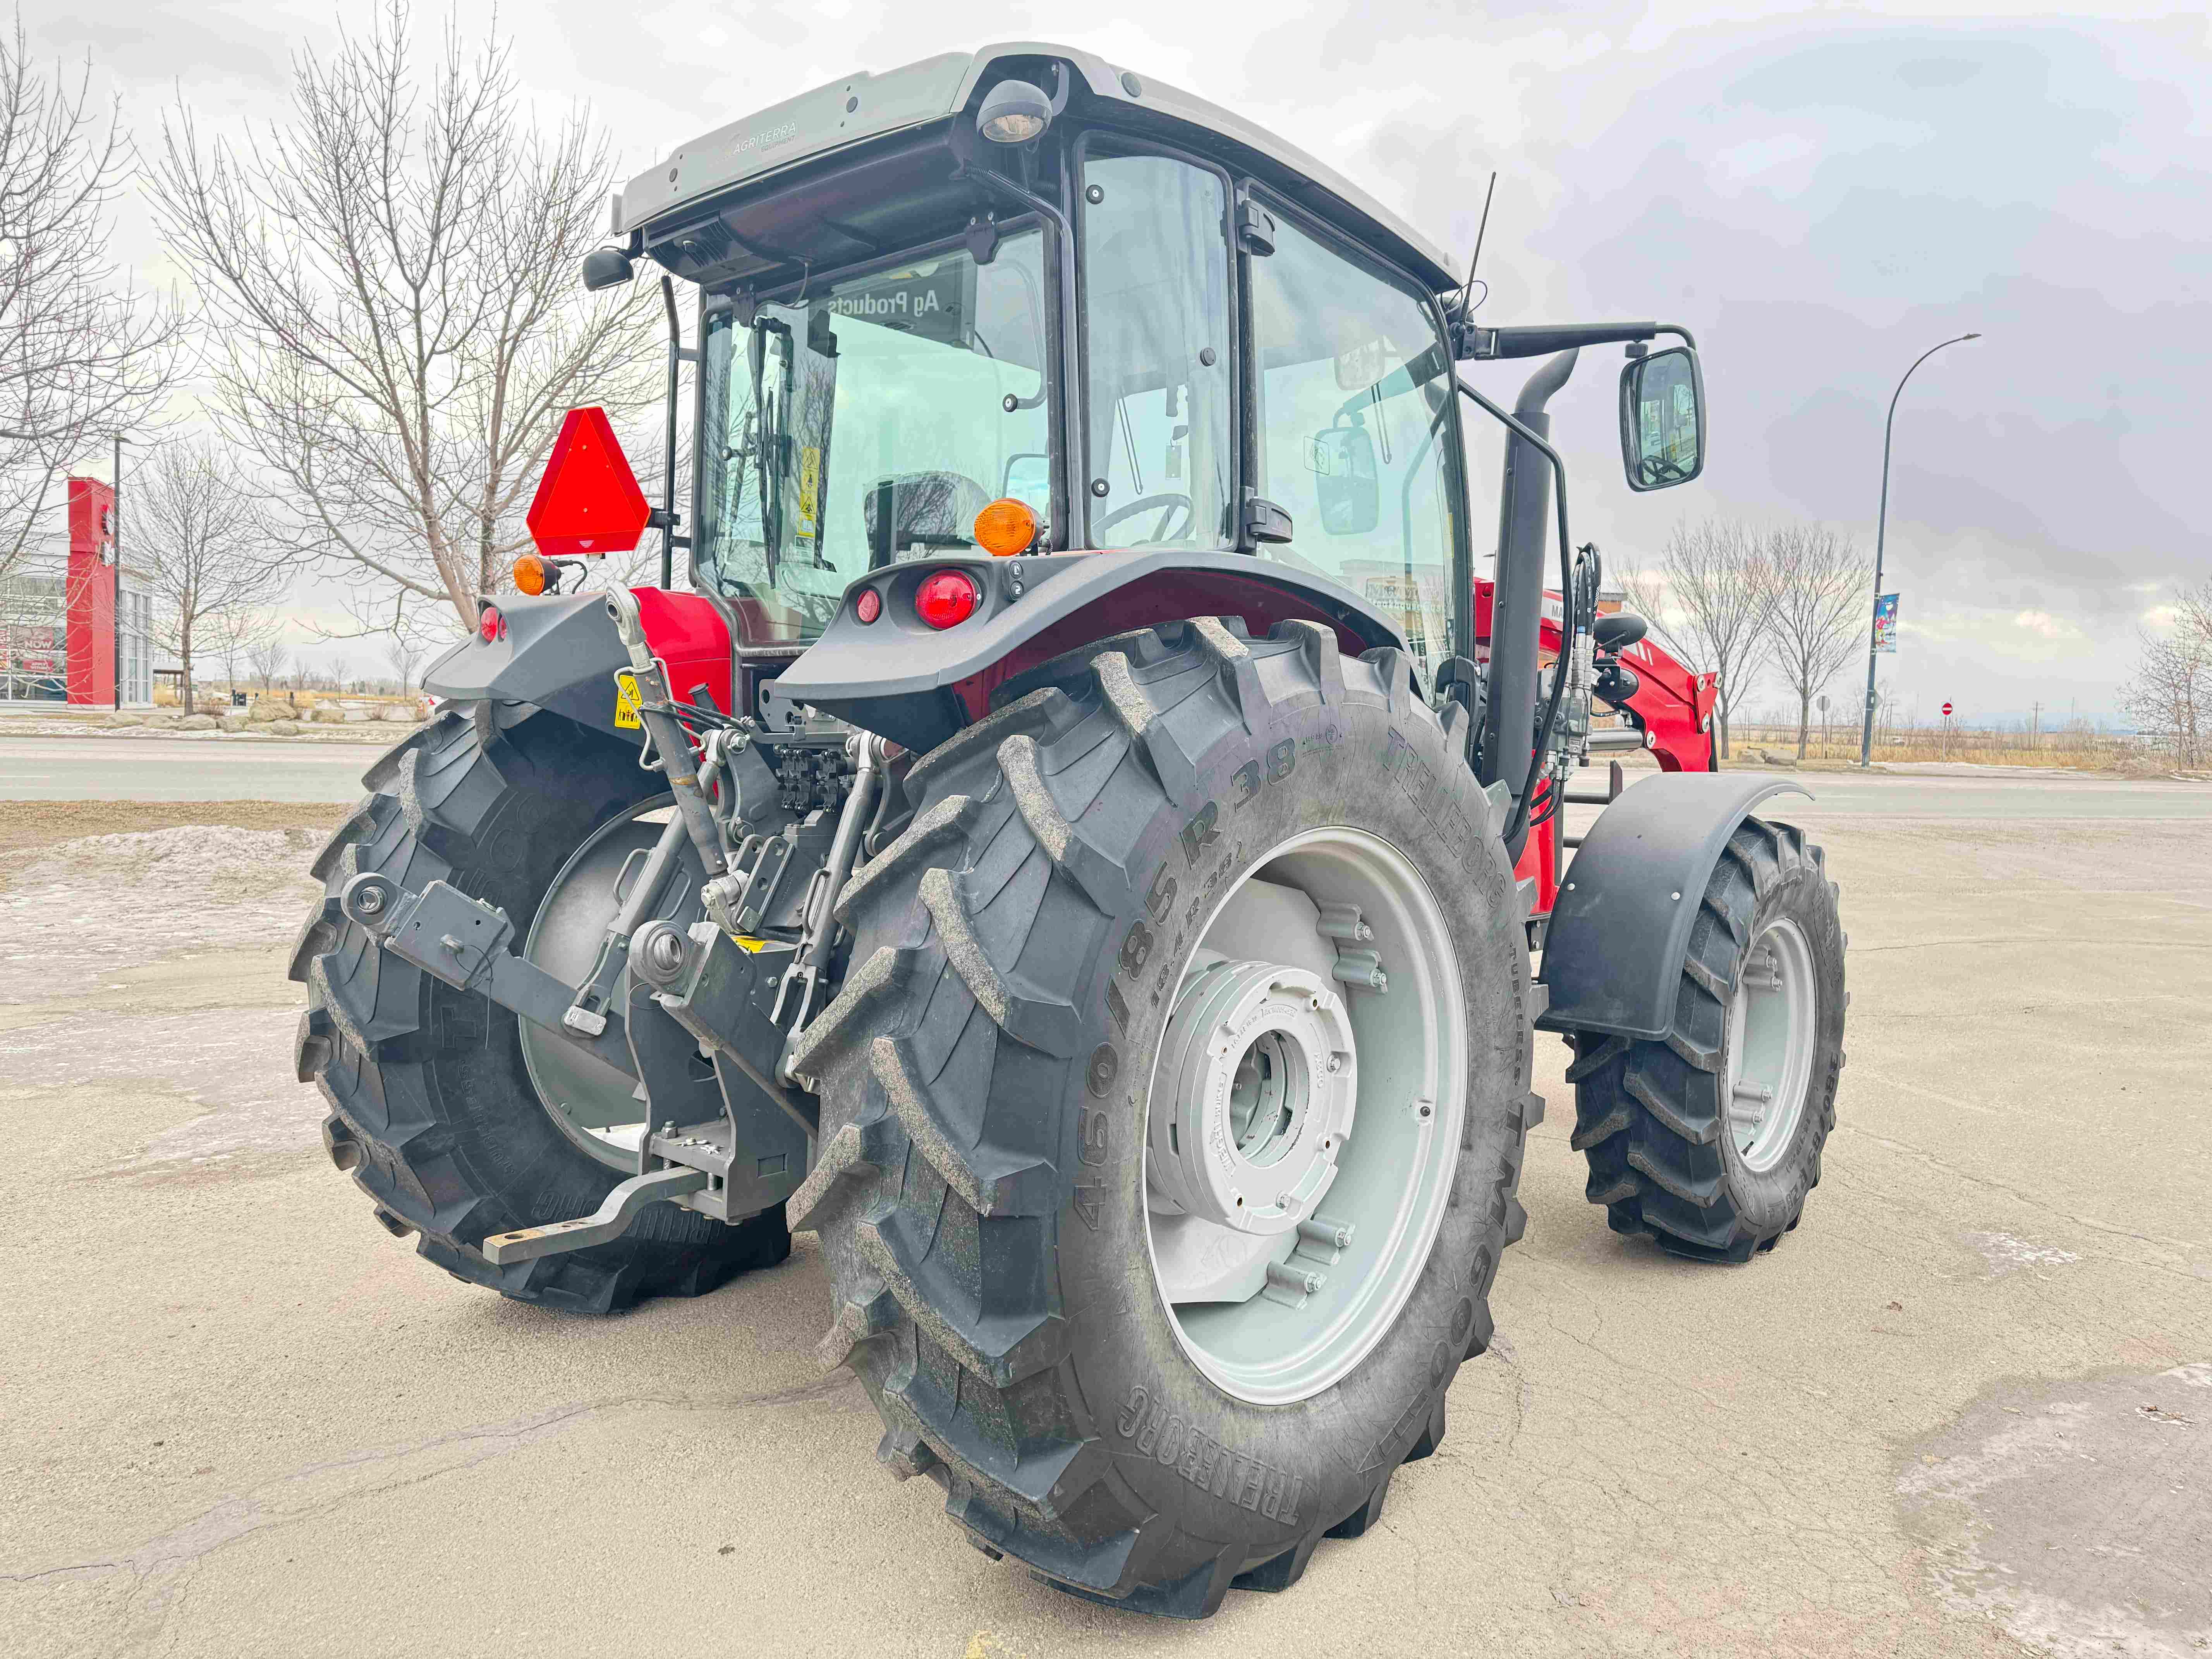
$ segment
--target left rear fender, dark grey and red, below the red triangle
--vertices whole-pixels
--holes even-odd
[[[630,588],[653,655],[668,664],[679,697],[703,695],[730,710],[730,624],[710,599],[668,588]],[[604,593],[562,593],[495,602],[495,639],[465,639],[431,664],[422,690],[465,701],[533,703],[580,726],[641,741],[635,717],[622,723],[615,675],[630,666],[606,613]]]

